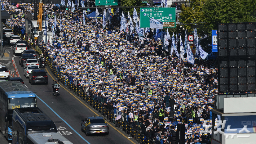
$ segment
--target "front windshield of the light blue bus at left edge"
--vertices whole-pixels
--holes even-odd
[[[8,109],[36,107],[36,98],[9,98]]]

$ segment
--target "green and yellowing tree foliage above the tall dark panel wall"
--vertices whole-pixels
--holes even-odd
[[[206,22],[197,29],[198,37],[208,35],[202,39],[200,45],[204,50],[211,51],[211,31],[217,30],[218,23],[255,22],[256,0],[190,0],[190,6],[182,5],[180,22]],[[184,26],[192,32],[191,25]]]

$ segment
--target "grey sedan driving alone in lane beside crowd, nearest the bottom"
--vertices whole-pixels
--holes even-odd
[[[109,125],[102,117],[87,117],[81,122],[81,131],[85,132],[85,135],[97,133],[109,135]]]

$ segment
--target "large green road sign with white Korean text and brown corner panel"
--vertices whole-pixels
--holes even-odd
[[[150,27],[149,18],[163,22],[163,27],[176,27],[176,8],[141,8],[141,27]]]

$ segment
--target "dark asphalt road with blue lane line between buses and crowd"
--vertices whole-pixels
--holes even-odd
[[[13,51],[13,49],[9,46],[5,46],[4,49],[8,49],[10,52]],[[11,54],[13,53],[11,52]],[[12,55],[12,57],[14,57],[14,55]],[[76,99],[62,87],[59,89],[60,96],[53,96],[51,85],[53,79],[49,75],[50,73],[47,74],[49,83],[48,85],[37,84],[31,86],[31,84],[28,82],[28,79],[23,76],[23,67],[19,65],[19,58],[14,57],[14,59],[19,75],[25,82],[25,85],[41,100],[43,100],[41,101],[39,98],[37,98],[37,107],[42,109],[55,122],[58,132],[69,139],[72,143],[134,144],[134,141],[132,142],[127,138],[128,135],[124,136],[123,132],[120,132],[120,129],[117,131],[111,126],[109,126],[109,135],[97,134],[85,136],[85,133],[81,131],[81,120],[88,116],[94,116],[93,111],[87,108],[83,103],[79,102],[78,99]]]

